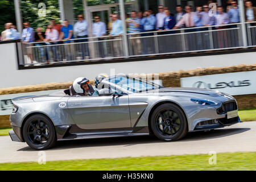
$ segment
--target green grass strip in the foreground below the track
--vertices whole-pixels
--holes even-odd
[[[46,162],[46,164],[41,165],[36,162],[0,163],[0,170],[256,170],[256,152],[217,154],[217,164],[209,164],[209,158],[210,156],[205,154],[118,159],[62,160]]]

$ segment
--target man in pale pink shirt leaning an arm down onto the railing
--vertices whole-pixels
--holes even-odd
[[[192,6],[186,6],[185,11],[186,14],[183,15],[181,20],[175,25],[174,29],[182,27],[183,25],[185,25],[187,28],[195,27],[193,17],[196,13],[192,12]]]

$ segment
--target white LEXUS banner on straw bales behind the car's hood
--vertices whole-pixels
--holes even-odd
[[[181,78],[181,87],[218,90],[232,96],[256,93],[256,71]]]

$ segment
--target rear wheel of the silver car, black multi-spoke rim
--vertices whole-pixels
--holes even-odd
[[[35,114],[23,126],[23,138],[31,148],[46,150],[56,144],[56,133],[52,122],[43,114]]]

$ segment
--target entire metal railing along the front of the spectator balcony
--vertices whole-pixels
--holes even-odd
[[[249,47],[256,46],[255,22],[246,23]],[[180,28],[127,34],[129,57],[243,48],[242,24]],[[24,65],[121,59],[122,36],[102,36],[25,44]],[[32,60],[32,61],[31,61]]]

